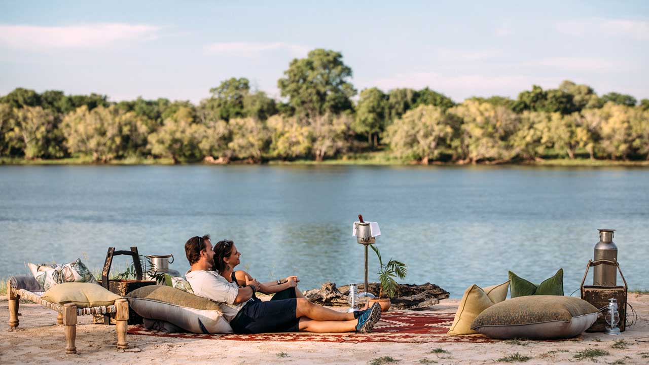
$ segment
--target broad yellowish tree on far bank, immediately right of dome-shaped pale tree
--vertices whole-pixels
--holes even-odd
[[[517,131],[519,116],[506,107],[465,100],[448,110],[463,120],[458,155],[476,163],[504,162],[515,157],[509,137]],[[464,162],[464,161],[463,161]]]

